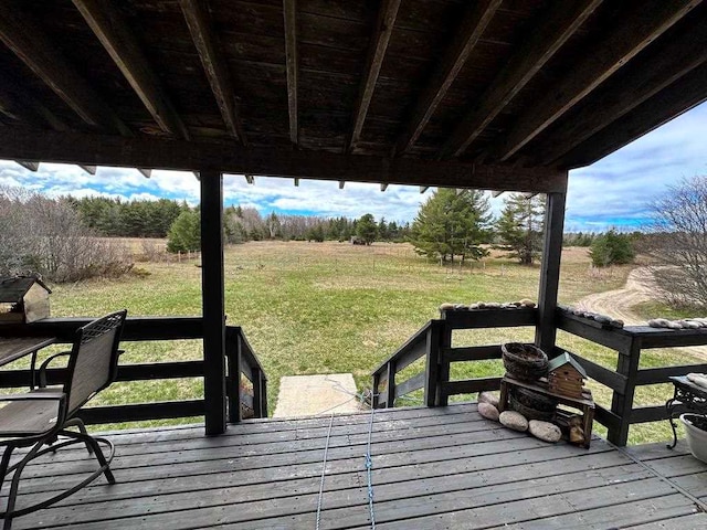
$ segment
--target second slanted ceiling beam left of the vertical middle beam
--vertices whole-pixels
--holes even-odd
[[[172,136],[189,139],[187,127],[119,11],[119,3],[109,0],[73,2],[157,125]]]

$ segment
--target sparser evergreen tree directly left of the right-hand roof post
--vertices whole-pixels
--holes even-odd
[[[544,195],[511,193],[496,223],[498,236],[510,255],[523,265],[532,265],[542,250]]]

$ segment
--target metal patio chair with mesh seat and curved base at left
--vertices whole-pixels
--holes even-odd
[[[0,512],[0,517],[4,519],[3,530],[10,530],[15,517],[46,508],[78,491],[99,475],[105,475],[109,484],[115,484],[109,468],[115,453],[113,443],[106,438],[91,436],[81,418],[76,417],[76,413],[115,380],[119,356],[118,342],[126,312],[114,312],[80,328],[71,351],[54,354],[42,363],[39,370],[40,388],[23,394],[0,396],[0,404],[7,403],[0,409],[0,447],[4,446],[0,460],[0,488],[14,471],[6,509]],[[60,357],[68,357],[66,379],[62,388],[46,388],[46,369]],[[34,374],[32,380],[34,381]],[[68,431],[68,427],[77,427],[78,431]],[[101,467],[80,484],[59,495],[15,509],[20,477],[27,464],[49,452],[72,444],[85,444]],[[99,444],[108,449],[107,458]],[[19,462],[10,466],[12,452],[18,447],[31,448]]]

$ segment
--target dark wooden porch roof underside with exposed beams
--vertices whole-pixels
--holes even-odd
[[[707,99],[699,0],[3,0],[0,40],[19,160],[547,191]]]

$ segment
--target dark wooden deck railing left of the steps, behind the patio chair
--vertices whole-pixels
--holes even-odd
[[[48,318],[29,326],[3,325],[0,327],[0,336],[52,336],[57,337],[60,343],[71,343],[75,330],[89,321],[91,319],[87,318]],[[201,338],[203,338],[201,317],[129,317],[125,322],[120,344],[123,349],[129,350],[129,342]],[[229,421],[239,422],[241,406],[236,403],[249,401],[252,401],[254,417],[266,417],[267,379],[240,327],[226,327],[226,367]],[[202,360],[119,364],[116,381],[203,378],[203,368]],[[252,399],[242,395],[241,377],[236,375],[244,375],[252,382]],[[63,377],[64,369],[48,370],[50,384],[61,383]],[[30,370],[0,371],[0,389],[27,386],[30,382]],[[81,411],[80,415],[84,422],[96,424],[201,416],[203,414],[203,400],[181,400],[87,406]]]

